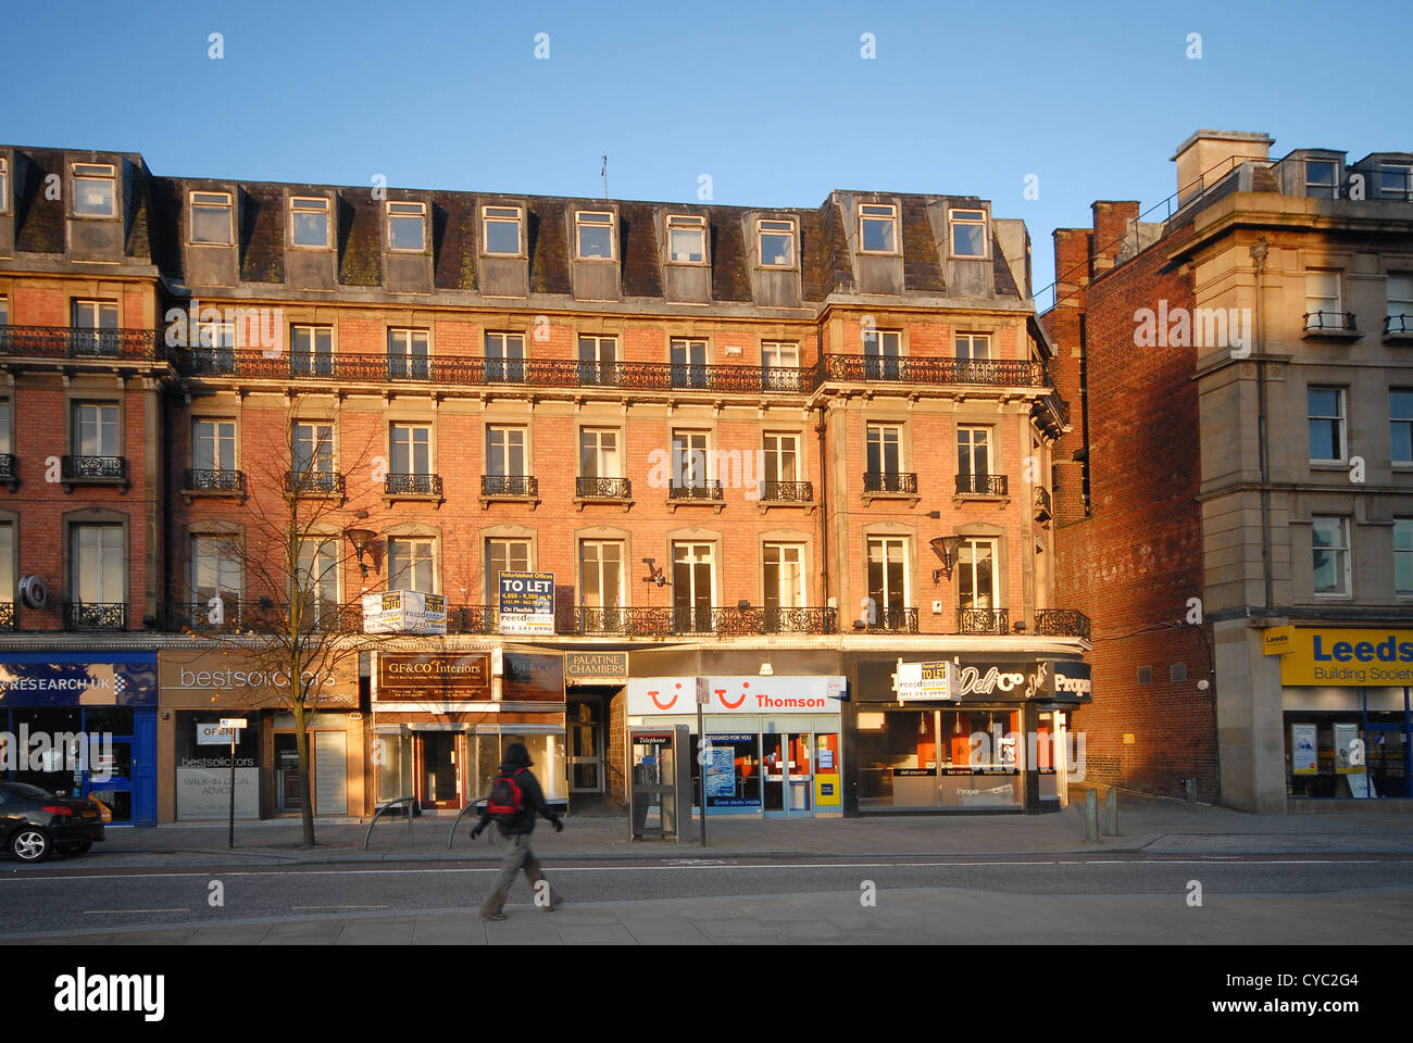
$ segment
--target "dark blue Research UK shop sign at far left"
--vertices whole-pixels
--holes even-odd
[[[6,707],[155,707],[155,652],[0,654]]]

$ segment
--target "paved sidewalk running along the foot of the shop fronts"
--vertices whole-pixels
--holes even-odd
[[[236,824],[236,848],[222,825],[110,828],[107,839],[81,859],[51,865],[182,866],[285,865],[407,861],[493,861],[490,837],[472,841],[472,818],[447,841],[451,815],[413,821],[383,818],[363,848],[367,824],[336,820],[317,824],[319,847],[301,847],[298,820]],[[899,815],[869,818],[708,820],[709,844],[627,839],[626,818],[569,817],[564,832],[548,823],[536,830],[536,851],[548,862],[639,858],[808,858],[909,855],[1027,855],[1095,851],[1152,854],[1413,854],[1413,815],[1290,814],[1253,815],[1205,804],[1122,794],[1119,835],[1095,844],[1084,838],[1080,804],[1044,815]],[[490,831],[487,831],[490,832]]]

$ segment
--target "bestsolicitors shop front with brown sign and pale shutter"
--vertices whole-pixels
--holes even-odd
[[[223,820],[230,814],[230,735],[220,718],[250,722],[235,750],[236,818],[302,810],[298,735],[288,676],[235,652],[164,650],[158,664],[161,821]],[[305,715],[315,815],[362,815],[363,714],[357,661],[325,670]]]

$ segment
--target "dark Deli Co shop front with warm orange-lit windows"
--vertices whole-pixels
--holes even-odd
[[[849,743],[859,814],[1060,810],[1068,709],[1089,700],[1085,663],[865,660],[858,677]]]

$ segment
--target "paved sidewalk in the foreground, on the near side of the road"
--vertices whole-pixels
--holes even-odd
[[[47,945],[739,945],[739,944],[1364,944],[1413,943],[1413,895],[1217,895],[1200,909],[1174,895],[1005,895],[879,890],[747,897],[527,904],[485,923],[475,909],[404,916],[321,916],[7,936]]]

